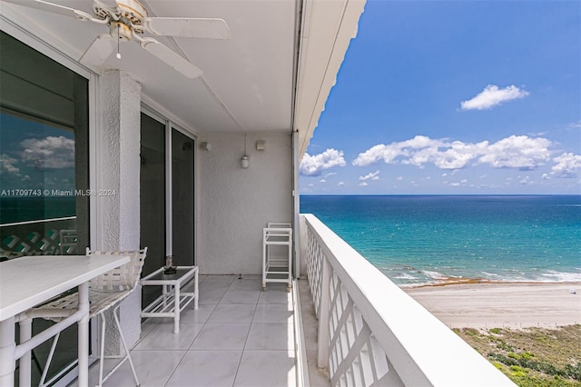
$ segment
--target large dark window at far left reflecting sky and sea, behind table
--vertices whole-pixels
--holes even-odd
[[[5,33],[0,33],[0,57],[0,260],[84,254],[88,81]],[[34,319],[33,333],[51,324]],[[34,384],[51,343],[33,351]],[[61,335],[48,379],[76,358],[74,324]]]

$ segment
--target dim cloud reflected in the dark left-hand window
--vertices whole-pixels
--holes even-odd
[[[28,138],[20,143],[25,148],[22,160],[40,169],[74,167],[74,140],[62,135],[42,139]]]

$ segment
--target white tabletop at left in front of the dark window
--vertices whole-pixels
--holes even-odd
[[[35,255],[0,263],[0,321],[129,262],[129,255]]]

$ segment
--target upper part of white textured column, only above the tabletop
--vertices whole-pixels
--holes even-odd
[[[141,84],[117,70],[101,77],[102,124],[99,188],[117,194],[99,196],[103,250],[139,248],[139,171]]]

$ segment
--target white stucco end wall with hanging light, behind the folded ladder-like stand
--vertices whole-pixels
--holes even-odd
[[[266,141],[259,152],[257,140]],[[248,134],[250,167],[242,169],[243,134],[206,134],[198,144],[201,194],[198,265],[204,274],[260,274],[262,228],[292,220],[291,134]]]

